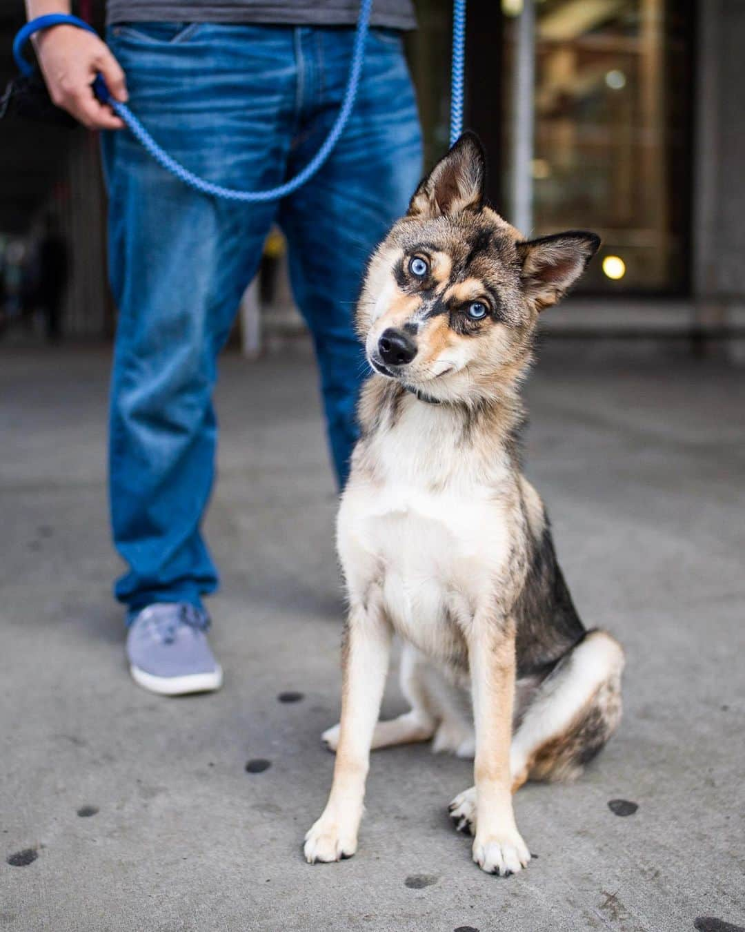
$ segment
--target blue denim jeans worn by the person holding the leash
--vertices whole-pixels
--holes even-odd
[[[237,188],[285,181],[337,114],[353,31],[131,23],[109,30],[132,110],[169,153]],[[119,309],[111,387],[110,496],[129,571],[116,597],[200,605],[218,574],[200,525],[214,473],[217,355],[278,223],[315,343],[332,459],[344,484],[364,376],[352,327],[365,262],[405,211],[421,169],[398,34],[371,31],[359,98],[332,156],[280,202],[205,197],[163,171],[127,130],[103,140],[109,264]]]

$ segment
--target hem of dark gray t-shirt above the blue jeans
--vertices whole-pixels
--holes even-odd
[[[108,0],[106,22],[237,22],[351,26],[359,0]],[[414,29],[412,0],[373,0],[373,26]]]

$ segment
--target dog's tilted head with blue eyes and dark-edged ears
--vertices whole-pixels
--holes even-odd
[[[522,240],[485,204],[484,180],[481,143],[465,133],[376,250],[359,301],[373,368],[440,401],[498,397],[514,383],[538,312],[600,245],[577,230]]]

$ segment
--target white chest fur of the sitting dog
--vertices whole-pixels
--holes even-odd
[[[433,658],[462,651],[462,629],[504,566],[508,528],[445,412],[412,400],[374,450],[374,480],[353,476],[338,521],[350,596],[371,587],[401,637]],[[443,417],[443,415],[445,415]]]

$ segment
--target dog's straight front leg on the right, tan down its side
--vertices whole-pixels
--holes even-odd
[[[473,859],[487,873],[517,873],[530,853],[512,810],[509,746],[515,692],[515,629],[507,617],[477,612],[468,637],[476,726],[476,837]]]

